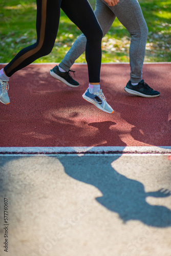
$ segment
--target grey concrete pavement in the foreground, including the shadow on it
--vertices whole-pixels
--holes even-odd
[[[3,256],[171,255],[169,154],[5,155],[0,176]]]

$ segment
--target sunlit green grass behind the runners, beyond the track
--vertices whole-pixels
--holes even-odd
[[[90,0],[94,9],[95,0]],[[170,0],[139,0],[148,26],[145,61],[171,61]],[[35,0],[1,0],[0,62],[9,62],[15,54],[36,41]],[[35,62],[60,62],[80,30],[61,11],[58,35],[53,51]],[[102,40],[102,62],[129,62],[130,35],[115,19]],[[86,62],[82,54],[76,62]]]

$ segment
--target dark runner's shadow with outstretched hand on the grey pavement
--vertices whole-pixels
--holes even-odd
[[[70,177],[97,187],[102,197],[97,202],[116,212],[124,221],[138,220],[153,227],[171,226],[171,211],[167,207],[150,205],[146,197],[167,197],[168,190],[146,193],[144,185],[116,172],[111,163],[118,156],[73,156],[60,158],[66,174]]]

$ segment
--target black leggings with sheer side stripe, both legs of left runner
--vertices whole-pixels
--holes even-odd
[[[89,82],[100,81],[102,30],[87,0],[36,0],[37,41],[17,53],[4,68],[7,76],[23,69],[34,60],[48,55],[54,46],[60,17],[60,8],[87,37],[86,60]]]

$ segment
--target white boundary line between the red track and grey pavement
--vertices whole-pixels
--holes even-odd
[[[171,146],[0,147],[7,154],[171,154]]]

